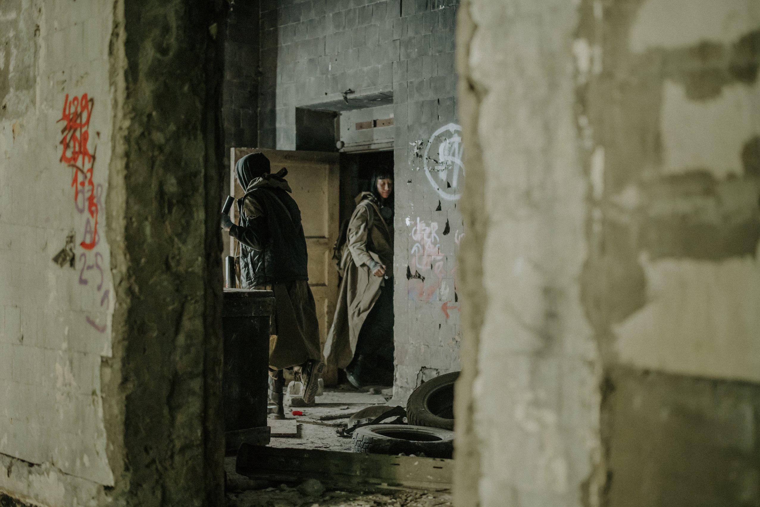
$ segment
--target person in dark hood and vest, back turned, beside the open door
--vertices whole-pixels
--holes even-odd
[[[283,369],[293,368],[312,403],[324,368],[317,311],[306,269],[308,256],[298,204],[284,179],[287,170],[270,173],[264,154],[238,160],[236,178],[245,190],[237,201],[239,223],[222,216],[222,228],[240,242],[243,289],[274,291],[274,321],[269,344],[270,398],[283,413]]]

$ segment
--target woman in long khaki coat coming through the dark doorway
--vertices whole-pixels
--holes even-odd
[[[354,387],[393,385],[393,173],[356,196],[340,257],[343,274],[325,357]]]

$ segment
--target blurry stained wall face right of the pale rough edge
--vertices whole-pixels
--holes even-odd
[[[587,2],[574,50],[606,500],[756,505],[760,6]]]

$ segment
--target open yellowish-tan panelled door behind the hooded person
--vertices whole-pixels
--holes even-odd
[[[230,192],[241,198],[243,189],[235,179],[235,164],[241,157],[261,152],[271,163],[272,173],[282,167],[288,170],[286,179],[293,189],[293,199],[301,210],[306,249],[309,252],[309,286],[317,304],[319,337],[322,348],[332,324],[337,302],[337,270],[332,261],[332,248],[337,239],[340,205],[338,154],[322,151],[283,151],[258,148],[232,148],[230,154]],[[237,223],[237,209],[233,206]],[[236,239],[230,238],[230,255],[236,255]],[[337,370],[328,365],[325,384],[334,385]]]

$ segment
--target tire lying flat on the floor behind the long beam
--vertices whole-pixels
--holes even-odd
[[[425,455],[451,458],[454,432],[407,424],[373,424],[357,428],[351,440],[353,452],[382,455]]]

